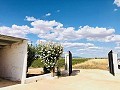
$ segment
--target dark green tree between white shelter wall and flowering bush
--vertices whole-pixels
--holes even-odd
[[[36,60],[36,47],[32,44],[28,44],[27,71],[34,60]]]

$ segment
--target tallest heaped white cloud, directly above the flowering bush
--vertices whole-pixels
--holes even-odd
[[[55,31],[55,28],[60,28],[63,25],[55,20],[45,21],[45,20],[36,20],[31,23],[31,32],[38,34],[38,36],[45,36]]]

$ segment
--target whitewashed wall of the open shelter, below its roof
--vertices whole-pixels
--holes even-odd
[[[27,41],[0,49],[0,77],[24,83],[27,67]]]

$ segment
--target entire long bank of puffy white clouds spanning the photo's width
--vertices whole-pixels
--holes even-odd
[[[120,35],[116,35],[115,29],[112,28],[83,26],[78,30],[75,30],[74,27],[64,28],[62,23],[55,20],[39,20],[28,16],[26,16],[26,19],[32,21],[32,27],[28,27],[27,25],[12,25],[12,27],[2,26],[0,27],[0,33],[18,37],[26,37],[27,34],[33,33],[44,40],[57,40],[63,42],[80,39],[102,42],[120,42]]]

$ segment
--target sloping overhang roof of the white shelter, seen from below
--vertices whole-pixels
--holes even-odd
[[[27,39],[0,34],[0,48],[11,45],[13,43],[21,42],[23,40],[27,40]]]

